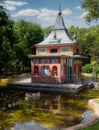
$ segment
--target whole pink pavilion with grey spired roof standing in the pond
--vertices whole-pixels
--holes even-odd
[[[30,55],[32,82],[67,82],[81,76],[81,50],[65,28],[62,12],[49,36]]]

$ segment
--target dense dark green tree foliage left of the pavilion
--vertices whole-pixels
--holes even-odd
[[[33,45],[43,40],[42,28],[31,22],[13,22],[0,6],[0,74],[26,72],[30,69],[29,54]]]

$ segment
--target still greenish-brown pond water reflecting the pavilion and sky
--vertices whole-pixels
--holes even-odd
[[[0,130],[62,130],[78,124],[99,90],[79,94],[41,93],[39,99],[25,100],[25,91],[0,90]]]

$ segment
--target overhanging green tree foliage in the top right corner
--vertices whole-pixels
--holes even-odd
[[[82,8],[88,12],[85,16],[87,22],[99,20],[99,0],[84,0]]]

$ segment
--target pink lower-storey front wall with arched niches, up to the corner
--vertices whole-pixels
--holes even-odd
[[[60,63],[60,59],[58,59],[58,63],[57,64],[52,64],[51,62],[49,62],[49,64],[34,64],[33,63],[33,59],[31,60],[31,76],[32,76],[32,80],[38,80],[38,81],[55,81],[55,82],[61,82],[66,80],[66,73],[64,73],[64,76],[61,76],[61,63]],[[34,75],[34,66],[38,66],[39,68],[39,75],[35,76]],[[50,69],[50,73],[49,76],[42,76],[42,72],[41,72],[41,67],[42,66],[49,66]],[[57,76],[52,76],[52,68],[53,66],[57,67]],[[64,68],[65,68],[65,64],[64,64]]]

